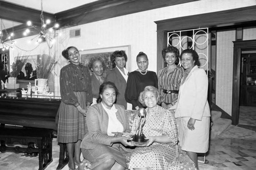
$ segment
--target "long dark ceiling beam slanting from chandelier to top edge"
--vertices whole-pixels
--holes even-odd
[[[199,0],[100,0],[56,13],[60,27],[72,27],[117,16]]]

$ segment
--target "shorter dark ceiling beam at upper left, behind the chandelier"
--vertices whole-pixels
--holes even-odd
[[[12,20],[20,23],[27,23],[31,20],[34,26],[41,26],[41,11],[16,4],[0,1],[0,18]],[[55,20],[55,15],[44,12],[45,19]],[[52,23],[52,26],[54,23]]]

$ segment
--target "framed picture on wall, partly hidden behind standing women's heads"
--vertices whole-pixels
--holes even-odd
[[[91,57],[100,56],[100,57],[104,58],[105,65],[107,67],[106,69],[109,70],[109,69],[113,68],[110,57],[111,57],[112,53],[117,50],[125,51],[127,58],[131,59],[131,45],[114,46],[114,47],[106,47],[106,48],[95,48],[95,49],[91,49],[91,50],[80,51],[79,53],[81,54],[82,64],[87,65],[89,63],[89,60]],[[127,70],[131,70],[131,61],[130,60],[128,60],[126,62],[125,67]]]

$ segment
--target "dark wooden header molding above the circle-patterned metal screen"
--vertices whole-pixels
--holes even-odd
[[[234,25],[249,25],[250,23],[255,26],[255,11],[256,6],[250,6],[225,11],[159,20],[155,21],[155,23],[157,23],[157,31],[179,31],[206,27],[233,27]]]

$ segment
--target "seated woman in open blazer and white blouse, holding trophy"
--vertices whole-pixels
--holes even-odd
[[[133,146],[132,138],[113,132],[129,132],[124,107],[114,104],[118,90],[114,83],[104,82],[99,88],[98,104],[87,111],[88,131],[81,143],[82,155],[92,162],[91,169],[124,170],[125,147]],[[128,150],[127,150],[128,151]]]

